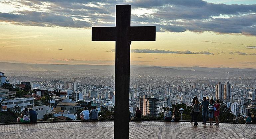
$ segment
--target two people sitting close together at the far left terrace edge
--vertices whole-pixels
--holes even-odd
[[[32,107],[25,108],[21,113],[21,117],[17,118],[17,122],[20,122],[20,123],[37,122],[37,112],[34,111]]]

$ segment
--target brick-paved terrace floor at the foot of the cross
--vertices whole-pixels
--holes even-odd
[[[256,125],[228,124],[202,125],[194,127],[190,122],[143,121],[130,122],[131,139],[194,139],[256,138]],[[114,122],[58,122],[37,124],[0,125],[1,139],[51,139],[84,138],[111,139],[114,136]]]

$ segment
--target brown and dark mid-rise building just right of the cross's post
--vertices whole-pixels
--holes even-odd
[[[147,96],[143,96],[143,98],[140,98],[140,106],[142,105],[142,99],[143,99],[143,115],[147,116],[158,116],[158,99],[156,98],[147,98]]]

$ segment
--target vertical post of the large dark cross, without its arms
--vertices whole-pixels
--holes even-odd
[[[131,5],[116,5],[115,139],[129,137],[130,9]]]

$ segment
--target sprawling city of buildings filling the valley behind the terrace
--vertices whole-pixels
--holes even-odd
[[[131,69],[129,93],[131,117],[135,116],[136,107],[140,108],[143,116],[157,117],[164,112],[164,108],[172,108],[172,105],[191,106],[194,96],[197,96],[200,102],[204,96],[207,100],[220,99],[230,112],[239,118],[245,118],[249,113],[254,112],[256,78],[250,76],[254,69],[244,72],[240,69],[238,75],[231,74],[232,69],[229,73],[219,72],[220,75],[225,74],[228,78],[224,75],[223,78],[215,77],[218,74],[215,71],[212,71],[213,75],[205,76],[204,68],[200,69],[201,76],[195,76],[199,74],[197,73],[199,69],[197,67],[194,74],[191,70],[179,70],[184,73],[180,75],[177,75],[176,70],[175,73],[164,73],[167,72],[166,70],[173,70],[172,68]],[[158,75],[159,72],[166,76]],[[62,77],[60,74],[65,76]],[[116,92],[112,70],[33,72],[6,70],[5,73],[1,72],[2,87],[4,83],[21,90],[26,90],[26,87],[30,86],[31,91],[19,95],[17,92],[21,91],[0,89],[1,111],[13,109],[15,105],[21,110],[32,106],[38,113],[39,120],[44,120],[44,115],[48,114],[53,114],[57,118],[61,116],[63,119],[64,116],[76,120],[77,111],[85,106],[89,108],[94,106],[99,112],[102,108],[110,110],[115,106]]]

